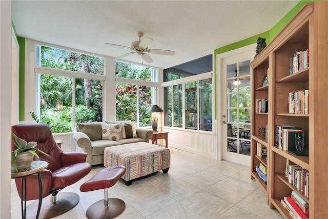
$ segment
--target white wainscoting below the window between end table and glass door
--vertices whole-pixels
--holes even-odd
[[[217,159],[216,134],[207,134],[204,133],[204,131],[197,132],[170,128],[163,128],[163,131],[169,132],[169,148],[177,148],[183,151]]]

